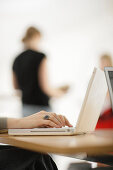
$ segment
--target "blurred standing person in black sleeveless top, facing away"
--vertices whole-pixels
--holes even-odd
[[[61,97],[68,86],[53,88],[49,84],[46,55],[39,51],[40,31],[29,27],[22,42],[24,51],[13,63],[13,85],[22,91],[23,116],[40,110],[50,111],[49,99]]]

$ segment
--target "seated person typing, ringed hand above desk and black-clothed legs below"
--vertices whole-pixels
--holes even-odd
[[[49,116],[49,120],[45,116]],[[63,127],[72,125],[65,116],[46,111],[24,118],[0,118],[0,129]],[[0,170],[57,170],[48,154],[36,153],[9,145],[0,146]]]

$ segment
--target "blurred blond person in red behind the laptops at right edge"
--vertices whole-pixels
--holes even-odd
[[[99,65],[102,70],[104,70],[104,67],[112,67],[113,66],[112,57],[107,54],[102,55],[99,60]],[[113,112],[111,108],[109,91],[107,92],[103,109],[101,111],[101,115],[98,120],[96,128],[97,129],[113,128]]]

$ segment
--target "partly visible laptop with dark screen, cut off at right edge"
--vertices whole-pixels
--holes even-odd
[[[108,84],[111,105],[112,105],[112,110],[113,110],[113,67],[105,67],[104,72],[105,72],[105,76],[106,76],[106,80]]]

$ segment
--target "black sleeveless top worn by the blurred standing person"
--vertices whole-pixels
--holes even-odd
[[[41,61],[45,58],[43,53],[26,50],[21,53],[13,63],[19,88],[22,90],[24,104],[48,106],[49,97],[39,86],[38,71]]]

